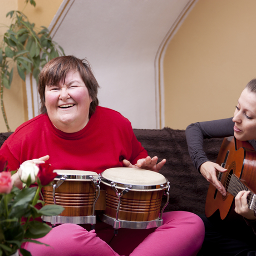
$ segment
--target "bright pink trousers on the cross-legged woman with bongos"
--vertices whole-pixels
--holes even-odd
[[[204,240],[203,221],[186,211],[164,213],[163,220],[159,228],[119,229],[116,236],[105,223],[89,232],[80,225],[62,224],[37,239],[50,246],[25,243],[23,248],[33,256],[196,255]]]

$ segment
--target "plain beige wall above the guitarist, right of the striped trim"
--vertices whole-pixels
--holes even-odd
[[[164,60],[165,126],[231,117],[256,77],[256,1],[199,0]]]

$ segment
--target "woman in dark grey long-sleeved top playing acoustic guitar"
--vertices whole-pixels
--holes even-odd
[[[208,160],[203,150],[203,139],[234,136],[239,141],[248,141],[256,150],[256,79],[250,81],[239,97],[234,117],[229,119],[196,122],[186,129],[188,149],[193,163],[223,198],[227,195],[216,173],[227,169]],[[255,170],[256,171],[256,170]],[[250,191],[239,191],[235,196],[235,212],[242,221],[221,220],[219,211],[209,218],[201,216],[205,224],[205,240],[198,255],[256,255],[256,216],[248,208]]]

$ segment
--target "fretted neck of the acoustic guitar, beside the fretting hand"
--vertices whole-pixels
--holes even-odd
[[[250,191],[250,194],[247,196],[248,207],[249,209],[256,211],[256,194],[254,194],[248,188],[248,186],[244,185],[242,181],[237,178],[237,176],[232,174],[229,180],[228,192],[235,197],[240,191],[243,190]]]

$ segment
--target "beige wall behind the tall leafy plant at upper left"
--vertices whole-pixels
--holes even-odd
[[[61,2],[62,0],[36,0],[36,8],[28,4],[23,10],[24,0],[0,0],[0,23],[9,25],[10,19],[6,18],[6,13],[18,9],[24,11],[29,21],[34,22],[36,27],[48,27]],[[0,41],[2,41],[2,35],[6,30],[6,27],[0,27]],[[11,89],[4,88],[3,99],[9,127],[14,131],[27,120],[26,90],[17,72],[14,72]],[[2,112],[0,112],[0,132],[7,132]]]

